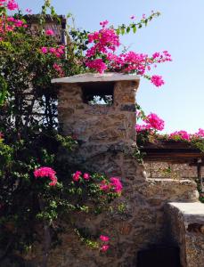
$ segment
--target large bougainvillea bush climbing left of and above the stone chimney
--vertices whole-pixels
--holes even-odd
[[[94,33],[69,27],[64,45],[58,43],[52,29],[45,30],[47,9],[60,23],[50,1],[45,0],[38,28],[31,32],[15,0],[0,0],[1,259],[13,250],[30,249],[34,241],[44,243],[46,255],[64,214],[102,213],[122,193],[119,177],[89,174],[80,166],[59,162],[59,146],[74,150],[78,143],[58,133],[58,88],[51,79],[116,71],[136,73],[160,86],[164,84],[162,77],[148,71],[171,61],[167,51],[151,56],[117,53],[119,36],[135,33],[159,16],[158,12],[139,21],[133,16],[129,25],[118,28],[108,26],[105,20]],[[102,253],[109,248],[110,238],[100,230],[92,242],[82,236],[73,220],[69,223],[86,244]]]

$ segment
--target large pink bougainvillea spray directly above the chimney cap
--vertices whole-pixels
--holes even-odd
[[[131,19],[135,19],[135,16],[132,16]],[[116,49],[120,45],[119,38],[113,28],[106,28],[108,23],[108,20],[100,22],[102,29],[88,35],[88,42],[92,44],[86,52],[86,67],[89,69],[94,69],[99,73],[109,69],[147,77],[146,72],[151,70],[151,65],[156,68],[158,63],[172,61],[171,55],[167,51],[156,52],[152,56],[132,51],[116,55]],[[148,78],[157,87],[164,85],[161,76],[153,75]]]

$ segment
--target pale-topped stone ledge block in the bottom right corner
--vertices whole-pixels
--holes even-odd
[[[181,265],[204,266],[204,204],[169,202],[166,214],[169,237],[180,247]]]

